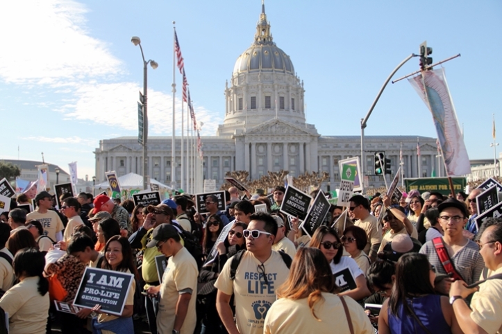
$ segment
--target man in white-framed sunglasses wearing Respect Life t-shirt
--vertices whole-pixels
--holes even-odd
[[[276,300],[276,289],[290,272],[281,254],[272,250],[276,234],[277,222],[269,214],[251,215],[248,229],[244,230],[247,250],[229,258],[218,276],[216,307],[229,334],[263,333],[267,311]],[[237,256],[240,263],[232,278],[233,258]],[[230,306],[232,295],[235,322]]]

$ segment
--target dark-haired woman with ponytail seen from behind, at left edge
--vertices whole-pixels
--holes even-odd
[[[0,308],[8,313],[10,334],[46,333],[50,301],[44,266],[44,254],[33,247],[19,250],[14,257],[12,269],[19,283],[0,299]]]

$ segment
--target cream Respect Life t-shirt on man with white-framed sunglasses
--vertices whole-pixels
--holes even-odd
[[[215,287],[226,295],[235,294],[235,317],[239,332],[262,334],[267,311],[276,301],[276,289],[286,281],[290,270],[276,251],[271,251],[271,256],[263,263],[265,270],[258,270],[258,265],[262,263],[253,253],[246,251],[232,281],[231,263],[232,258],[229,258],[218,276]],[[265,283],[263,272],[268,285]]]

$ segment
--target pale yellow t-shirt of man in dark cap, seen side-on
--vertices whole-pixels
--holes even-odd
[[[197,316],[195,312],[197,299],[197,263],[188,250],[183,247],[175,256],[167,261],[167,267],[160,285],[160,300],[158,302],[157,328],[159,333],[171,333],[176,318],[176,303],[179,291],[192,289],[192,298],[188,304],[187,316],[180,332],[192,334],[195,330]],[[212,307],[215,307],[214,305]]]

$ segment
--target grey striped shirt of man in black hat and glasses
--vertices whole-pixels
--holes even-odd
[[[430,264],[436,267],[437,274],[446,274],[440,257],[437,256],[433,240],[424,243],[419,253],[426,254]],[[479,254],[479,246],[472,240],[469,240],[467,245],[462,247],[451,257],[451,262],[455,270],[462,276],[467,284],[478,281],[481,272],[483,272],[485,268],[483,256]]]

